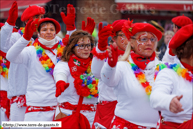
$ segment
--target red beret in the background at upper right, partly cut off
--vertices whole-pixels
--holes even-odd
[[[192,24],[192,20],[184,15],[172,18],[172,22],[179,27]]]

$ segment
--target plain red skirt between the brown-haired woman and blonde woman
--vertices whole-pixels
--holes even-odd
[[[111,121],[114,117],[116,104],[117,104],[117,101],[112,101],[105,104],[103,103],[97,104],[97,109],[96,109],[96,114],[92,125],[92,129],[95,129],[95,126],[94,126],[95,122],[100,123],[101,125],[105,126],[107,129],[110,128]]]

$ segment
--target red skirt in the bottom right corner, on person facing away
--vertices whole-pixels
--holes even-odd
[[[159,129],[193,129],[193,115],[191,120],[182,124],[168,121],[161,122]]]

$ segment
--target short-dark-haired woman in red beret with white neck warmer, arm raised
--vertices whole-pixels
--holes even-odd
[[[6,57],[10,62],[25,65],[28,70],[24,121],[52,121],[57,105],[52,75],[64,45],[56,38],[61,29],[56,20],[43,18],[37,27],[39,38],[26,47],[36,31],[35,21],[30,19],[23,36],[9,49]]]

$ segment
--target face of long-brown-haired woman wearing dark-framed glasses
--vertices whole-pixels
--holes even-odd
[[[87,59],[91,52],[91,41],[88,37],[80,38],[74,48],[77,57]]]

